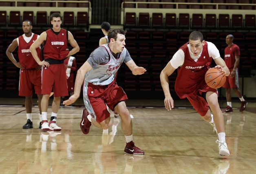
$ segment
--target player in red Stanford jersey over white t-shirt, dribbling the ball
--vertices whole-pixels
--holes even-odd
[[[172,110],[174,101],[170,95],[168,76],[175,69],[178,69],[178,76],[175,82],[175,91],[181,98],[188,98],[194,109],[201,115],[203,120],[216,125],[219,140],[220,155],[230,155],[225,142],[224,119],[218,105],[218,91],[210,88],[205,83],[205,73],[214,59],[216,67],[222,69],[225,75],[230,75],[224,60],[221,58],[218,49],[211,42],[203,40],[203,34],[199,31],[190,33],[189,42],[185,43],[174,54],[170,62],[161,71],[160,79],[165,95],[164,104],[167,110]],[[213,112],[210,112],[209,106]]]

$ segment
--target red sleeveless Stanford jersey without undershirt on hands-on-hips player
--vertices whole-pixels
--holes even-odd
[[[52,29],[46,30],[47,38],[44,45],[44,59],[53,58],[57,60],[65,59],[68,55],[68,31],[61,29],[55,34]]]

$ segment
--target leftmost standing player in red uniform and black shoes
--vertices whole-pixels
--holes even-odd
[[[40,125],[41,128],[41,66],[39,66],[33,59],[32,54],[29,51],[29,47],[32,43],[38,39],[38,35],[32,33],[32,23],[29,20],[22,22],[22,30],[24,34],[13,40],[11,45],[6,50],[7,57],[13,62],[13,64],[20,68],[20,82],[19,82],[19,96],[25,97],[26,118],[27,122],[22,127],[23,129],[33,128],[32,122],[32,93],[33,86],[35,93],[38,96],[38,107],[40,111]],[[18,47],[19,62],[17,62],[12,52]],[[41,49],[38,47],[35,52],[38,54],[38,58],[41,60]]]

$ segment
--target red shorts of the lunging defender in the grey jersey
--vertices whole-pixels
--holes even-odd
[[[96,121],[102,122],[110,117],[106,105],[114,111],[115,106],[128,99],[123,88],[117,85],[115,80],[109,85],[93,85],[88,83],[87,96],[90,105],[96,114]]]

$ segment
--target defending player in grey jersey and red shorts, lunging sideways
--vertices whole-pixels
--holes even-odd
[[[134,75],[146,72],[143,67],[138,67],[125,48],[125,32],[123,29],[111,29],[108,32],[109,43],[99,46],[88,60],[77,71],[75,91],[64,105],[74,103],[79,95],[84,82],[84,105],[80,122],[81,130],[88,134],[91,123],[100,129],[110,127],[110,114],[106,105],[115,110],[121,117],[121,127],[126,138],[125,153],[144,155],[143,150],[135,146],[132,141],[132,120],[126,108],[128,98],[124,90],[115,81],[117,71],[123,62]]]

